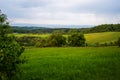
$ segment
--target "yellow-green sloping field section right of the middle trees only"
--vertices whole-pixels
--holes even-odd
[[[120,32],[103,32],[103,33],[90,33],[85,34],[87,43],[104,43],[116,41],[120,37]]]

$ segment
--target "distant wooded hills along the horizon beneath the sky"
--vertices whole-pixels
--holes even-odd
[[[52,25],[48,25],[48,26],[52,26]],[[56,27],[57,28],[56,28]],[[103,24],[103,25],[98,25],[98,26],[94,26],[94,27],[88,27],[87,26],[83,26],[85,28],[79,28],[79,26],[75,26],[75,25],[69,25],[68,28],[58,28],[58,27],[64,27],[63,25],[54,25],[54,28],[48,28],[46,27],[35,27],[35,26],[23,26],[23,27],[19,27],[19,26],[12,26],[12,31],[14,33],[62,33],[62,34],[69,34],[69,33],[73,33],[73,32],[82,32],[82,33],[96,33],[96,32],[120,32],[120,24]],[[72,27],[72,28],[71,28]],[[78,28],[74,28],[74,27],[78,27]]]

